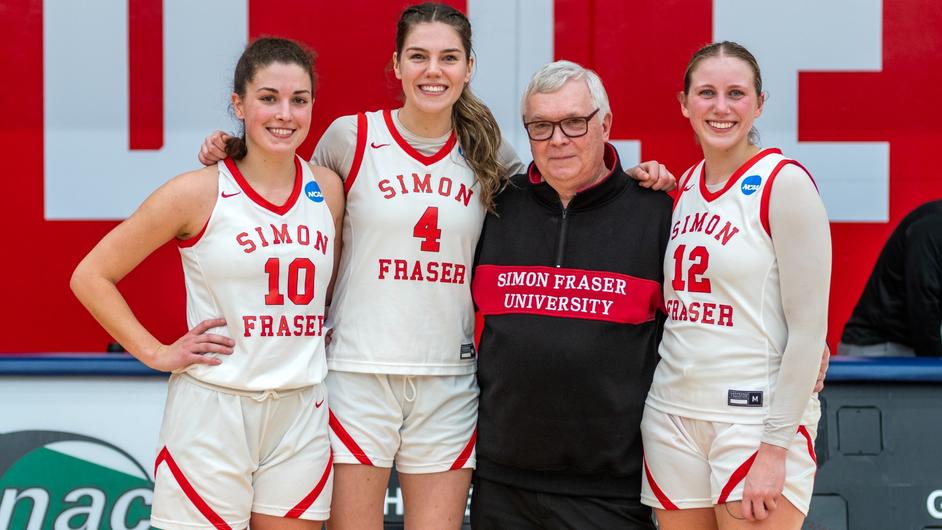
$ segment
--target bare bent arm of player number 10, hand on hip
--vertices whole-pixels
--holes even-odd
[[[214,203],[215,172],[207,168],[185,173],[161,186],[102,238],[72,273],[72,291],[92,316],[132,355],[157,370],[218,364],[199,353],[232,353],[231,339],[205,333],[224,325],[222,319],[201,323],[173,344],[162,344],[141,325],[117,288],[158,247],[199,232]]]

